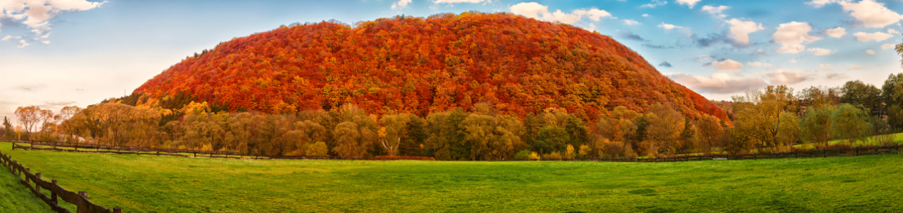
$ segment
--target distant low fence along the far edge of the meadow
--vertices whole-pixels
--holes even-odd
[[[233,159],[328,159],[328,160],[433,160],[432,157],[422,156],[312,156],[312,155],[250,155],[247,153],[228,152],[228,151],[201,151],[174,148],[152,148],[143,146],[107,146],[94,145],[84,143],[64,143],[50,141],[27,141],[27,140],[8,140],[13,142],[13,149],[21,148],[27,150],[51,150],[61,152],[84,152],[84,153],[113,153],[113,154],[134,154],[134,155],[170,155],[170,156],[193,156],[193,157],[210,157],[210,158],[233,158]],[[22,144],[27,144],[23,146]],[[43,147],[42,147],[43,146]],[[61,149],[60,147],[69,147],[74,149]],[[80,150],[79,150],[80,148]],[[656,158],[569,158],[569,159],[540,159],[539,161],[608,161],[608,162],[684,162],[684,161],[702,161],[702,160],[748,160],[748,159],[771,159],[771,158],[799,158],[799,157],[828,157],[828,156],[858,156],[858,155],[883,155],[883,154],[899,154],[903,150],[903,144],[894,146],[861,146],[854,148],[842,149],[826,149],[826,150],[808,150],[794,151],[783,153],[762,153],[762,154],[746,154],[746,155],[684,155],[673,157],[656,157]],[[529,161],[529,160],[493,160],[493,161]]]

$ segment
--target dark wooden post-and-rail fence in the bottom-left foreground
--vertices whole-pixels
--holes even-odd
[[[21,181],[22,184],[28,187],[35,196],[38,196],[39,199],[43,200],[47,205],[50,205],[51,209],[56,212],[70,213],[69,209],[60,207],[59,200],[74,204],[78,208],[76,210],[77,213],[122,212],[119,208],[113,208],[111,210],[88,201],[88,193],[85,191],[79,191],[78,193],[66,191],[57,184],[56,180],[45,182],[41,179],[41,173],[32,173],[31,169],[25,168],[25,166],[10,158],[9,155],[0,153],[0,164],[3,164],[4,167],[12,172],[17,178],[22,179],[24,176],[24,180]],[[51,195],[47,196],[41,189],[45,189]]]

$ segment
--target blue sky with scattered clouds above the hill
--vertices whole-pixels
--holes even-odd
[[[900,73],[903,0],[0,0],[0,116],[131,93],[219,42],[293,22],[515,13],[599,31],[712,100]]]

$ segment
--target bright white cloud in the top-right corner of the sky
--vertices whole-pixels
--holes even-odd
[[[847,1],[838,1],[843,6],[844,12],[851,12],[850,15],[859,20],[866,27],[882,28],[900,21],[900,14],[884,7],[884,4],[875,2],[874,0],[862,0],[859,3]]]

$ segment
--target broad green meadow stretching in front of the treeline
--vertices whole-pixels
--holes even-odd
[[[679,163],[0,150],[124,212],[903,212],[903,155]]]

